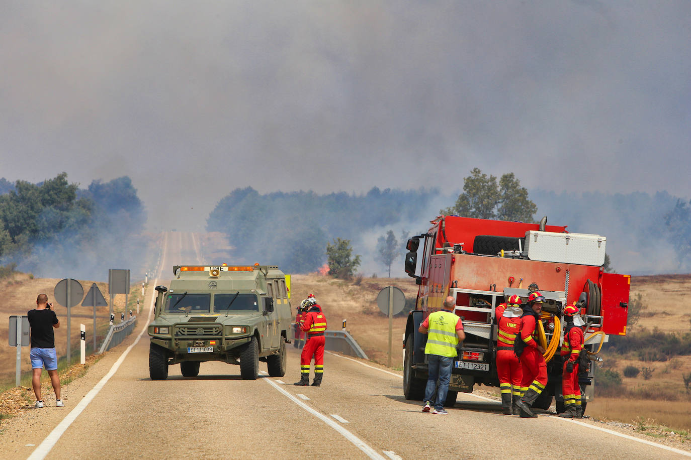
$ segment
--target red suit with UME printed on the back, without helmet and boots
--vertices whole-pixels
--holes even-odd
[[[504,394],[513,394],[520,397],[521,379],[523,370],[518,357],[513,352],[513,341],[520,332],[520,317],[500,317],[499,330],[497,332],[497,374],[499,376],[499,388],[502,390],[502,402]],[[511,401],[511,398],[508,399]]]

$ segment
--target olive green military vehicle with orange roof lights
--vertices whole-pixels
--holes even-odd
[[[173,274],[170,288],[155,288],[152,380],[167,379],[177,363],[184,377],[196,377],[204,361],[239,364],[245,380],[258,377],[259,361],[270,376],[285,375],[285,344],[294,338],[290,275],[258,264],[174,266]]]

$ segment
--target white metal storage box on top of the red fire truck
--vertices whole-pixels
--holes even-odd
[[[534,261],[601,266],[605,263],[606,241],[597,234],[528,230],[525,252]]]

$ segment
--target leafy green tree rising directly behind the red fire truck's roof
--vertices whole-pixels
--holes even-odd
[[[451,208],[442,214],[458,214],[477,219],[533,222],[538,207],[528,198],[528,190],[520,186],[513,172],[503,174],[497,182],[495,176],[483,174],[473,168],[463,179],[463,192]]]

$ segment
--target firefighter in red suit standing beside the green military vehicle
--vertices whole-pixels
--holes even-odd
[[[314,295],[307,297],[307,312],[303,317],[302,330],[307,332],[307,342],[300,355],[300,381],[294,385],[307,386],[310,384],[310,361],[314,356],[314,381],[312,386],[321,385],[321,377],[324,373],[324,331],[326,330],[326,317],[321,307],[316,303]]]

